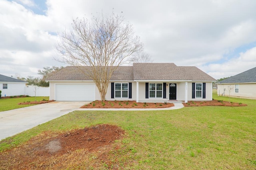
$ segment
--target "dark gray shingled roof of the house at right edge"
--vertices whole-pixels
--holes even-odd
[[[256,83],[256,67],[222,80],[219,83]]]

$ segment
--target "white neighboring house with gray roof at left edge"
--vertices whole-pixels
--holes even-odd
[[[0,74],[2,97],[25,95],[26,82]]]

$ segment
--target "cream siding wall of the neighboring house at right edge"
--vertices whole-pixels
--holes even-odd
[[[236,83],[239,84],[239,83]],[[230,96],[240,98],[256,99],[256,83],[239,84],[239,92],[235,92],[235,84],[217,84],[217,94],[220,96],[229,96],[229,86],[233,89],[230,90]],[[224,90],[224,88],[226,90]]]

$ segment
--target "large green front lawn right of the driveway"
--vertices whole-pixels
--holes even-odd
[[[215,100],[228,97],[213,94]],[[255,100],[246,107],[204,106],[163,111],[74,111],[0,142],[21,145],[42,131],[67,131],[109,123],[126,137],[115,151],[124,169],[256,169]],[[128,167],[127,167],[128,166]],[[104,162],[102,162],[104,167]]]

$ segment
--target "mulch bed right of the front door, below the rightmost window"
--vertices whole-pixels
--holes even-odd
[[[185,107],[190,106],[247,106],[247,104],[227,102],[223,100],[212,100],[212,101],[189,101],[188,103],[182,103]]]

